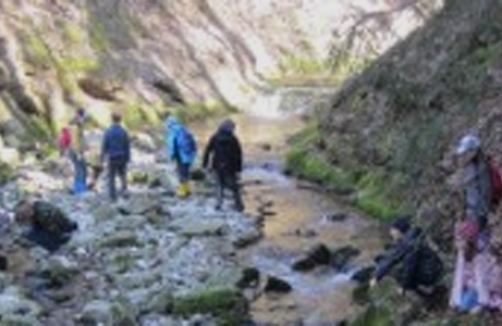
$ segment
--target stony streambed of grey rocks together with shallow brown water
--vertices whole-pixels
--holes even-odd
[[[262,131],[257,141],[242,130],[244,214],[230,203],[214,210],[210,180],[177,199],[174,167],[146,135],[133,152],[130,194],[117,203],[104,189],[68,194],[64,160],[25,160],[2,206],[29,193],[79,230],[49,255],[17,227],[3,229],[0,324],[334,325],[350,316],[350,279],[380,248],[378,228],[282,174],[287,134],[277,137],[277,121],[239,122]]]

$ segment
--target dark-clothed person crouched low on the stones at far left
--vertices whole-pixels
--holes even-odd
[[[17,205],[15,219],[29,227],[28,240],[49,252],[58,250],[77,230],[77,223],[68,219],[56,206],[45,201],[23,201]]]

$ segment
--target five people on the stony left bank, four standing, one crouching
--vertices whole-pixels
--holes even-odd
[[[131,162],[131,140],[122,126],[118,113],[111,115],[111,126],[104,132],[99,153],[88,158],[89,145],[85,140],[85,126],[88,117],[84,109],[77,110],[69,125],[62,128],[57,145],[60,154],[67,157],[73,168],[71,192],[75,195],[93,190],[102,172],[107,170],[107,194],[112,202],[119,197],[127,198],[127,171]],[[165,119],[166,154],[176,165],[178,177],[177,195],[186,198],[191,195],[190,170],[197,157],[197,144],[190,130],[174,116]],[[235,124],[226,119],[208,140],[203,157],[203,168],[214,175],[216,181],[215,209],[221,210],[225,188],[232,191],[234,209],[242,212],[244,204],[239,186],[242,171],[242,149],[234,134]],[[91,155],[92,156],[92,155]],[[92,175],[88,178],[88,170]],[[117,191],[116,179],[120,180]],[[88,180],[89,179],[89,180]],[[54,252],[65,244],[71,233],[78,229],[56,205],[43,200],[25,200],[17,204],[15,220],[27,226],[24,238],[49,252]]]

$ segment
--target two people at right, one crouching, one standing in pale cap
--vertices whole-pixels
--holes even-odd
[[[461,182],[457,186],[462,213],[454,226],[456,262],[449,306],[460,312],[502,312],[502,234],[495,232],[502,220],[497,209],[502,199],[502,177],[493,160],[485,155],[480,139],[467,135],[456,147]],[[444,293],[445,267],[439,254],[426,241],[426,230],[399,217],[390,226],[394,245],[378,261],[370,280],[374,287],[394,266],[401,292],[411,290],[433,303]],[[500,231],[500,229],[498,229]]]

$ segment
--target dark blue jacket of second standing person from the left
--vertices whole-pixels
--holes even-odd
[[[127,131],[120,124],[113,124],[105,132],[101,149],[101,160],[108,157],[111,161],[129,162],[131,146]]]

